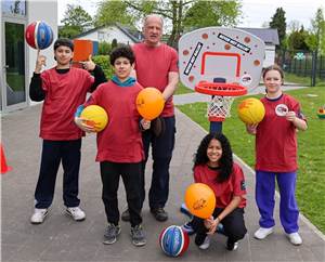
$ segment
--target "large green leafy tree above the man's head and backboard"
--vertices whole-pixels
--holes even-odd
[[[106,19],[120,22],[120,17],[128,15],[133,17],[129,19],[129,24],[135,25],[135,22],[139,22],[139,19],[147,14],[158,14],[164,17],[167,25],[171,26],[167,43],[172,47],[177,45],[180,36],[185,30],[205,26],[234,26],[240,14],[239,0],[103,0],[102,4],[110,4],[112,6],[113,3],[110,2],[117,2],[115,4],[121,8],[115,12],[100,9],[96,17],[107,17]],[[197,15],[196,12],[199,13],[199,15]],[[101,21],[98,18],[96,21],[101,24],[104,19]],[[105,25],[107,25],[107,23]],[[164,29],[166,31],[166,27]]]

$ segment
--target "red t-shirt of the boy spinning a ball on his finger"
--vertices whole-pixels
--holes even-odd
[[[43,140],[78,140],[83,132],[74,121],[77,107],[84,103],[94,78],[84,69],[70,67],[66,74],[58,74],[55,67],[41,74],[43,102],[40,137]]]

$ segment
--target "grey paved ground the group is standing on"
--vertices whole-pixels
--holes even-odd
[[[159,248],[160,231],[171,224],[182,224],[185,215],[179,212],[184,191],[193,182],[192,157],[206,132],[182,113],[177,112],[177,145],[171,162],[170,197],[166,207],[169,220],[156,222],[144,206],[144,227],[147,245],[135,248],[130,241],[129,224],[121,222],[119,240],[112,246],[102,244],[105,214],[101,200],[99,163],[94,162],[95,136],[88,135],[82,144],[80,173],[81,206],[87,220],[74,222],[64,214],[62,204],[62,170],[56,183],[55,198],[47,220],[31,225],[34,189],[38,178],[41,140],[38,137],[41,105],[11,113],[2,118],[2,143],[6,160],[13,170],[1,175],[1,261],[173,261]],[[237,158],[236,158],[237,159]],[[238,159],[237,159],[238,160]],[[238,160],[239,161],[239,160]],[[240,162],[240,161],[239,161]],[[294,247],[286,239],[278,222],[274,234],[265,240],[257,240],[252,233],[258,227],[258,210],[253,200],[253,172],[242,163],[247,179],[248,207],[246,225],[248,234],[239,243],[237,251],[224,248],[225,237],[214,235],[208,250],[198,250],[193,244],[179,261],[325,261],[324,236],[316,234],[304,220],[300,220],[303,245]],[[147,166],[150,184],[151,161]],[[123,186],[119,193],[120,210],[125,208]],[[278,201],[277,201],[278,204]]]

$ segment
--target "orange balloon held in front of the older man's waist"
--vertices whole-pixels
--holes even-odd
[[[158,117],[165,105],[161,92],[155,88],[145,88],[136,96],[136,109],[146,120],[153,120]]]

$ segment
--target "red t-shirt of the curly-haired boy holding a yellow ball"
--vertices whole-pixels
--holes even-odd
[[[108,81],[100,84],[84,104],[99,105],[108,115],[106,128],[98,133],[96,161],[140,162],[144,159],[135,105],[142,89],[138,82],[132,87],[119,87]]]

